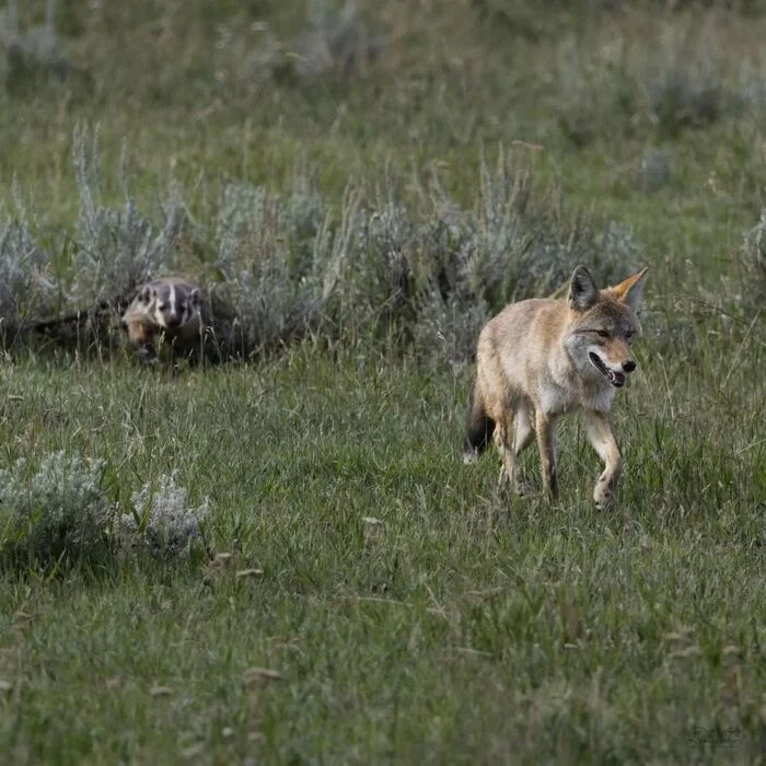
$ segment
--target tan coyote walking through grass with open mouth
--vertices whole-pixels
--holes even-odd
[[[622,456],[608,411],[636,369],[630,344],[640,333],[636,310],[647,271],[599,290],[578,266],[566,298],[512,303],[484,327],[464,462],[473,463],[494,436],[502,456],[500,478],[504,472],[524,494],[518,457],[536,434],[543,490],[556,499],[556,420],[583,410],[588,438],[604,462],[593,499],[599,508],[612,504]]]

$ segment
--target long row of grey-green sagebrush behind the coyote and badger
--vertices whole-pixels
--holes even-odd
[[[63,341],[65,322],[71,321],[78,347],[84,340],[84,348],[102,351],[114,346],[112,310],[175,264],[185,208],[175,194],[164,206],[162,228],[139,213],[127,194],[125,156],[125,208],[111,208],[100,196],[97,141],[89,151],[84,130],[76,135],[74,158],[81,212],[71,276],[66,283],[46,283],[74,311],[36,326]],[[611,227],[594,233],[565,214],[555,189],[547,197],[537,194],[531,175],[513,169],[502,152],[496,167],[483,160],[471,207],[434,179],[417,208],[403,202],[391,181],[371,201],[349,187],[339,209],[305,174],[297,174],[285,195],[225,184],[210,236],[214,259],[199,265],[210,276],[206,357],[249,357],[306,336],[353,343],[371,333],[397,343],[417,338],[428,348],[444,348],[448,338],[450,356],[463,358],[488,313],[557,289],[577,263],[603,278],[635,265],[629,231]],[[15,235],[30,239],[23,228]],[[198,225],[196,236],[205,240],[207,232]],[[30,243],[12,249],[27,247],[44,265]],[[35,276],[26,260],[11,258],[5,268],[13,264],[3,299],[11,318]]]

